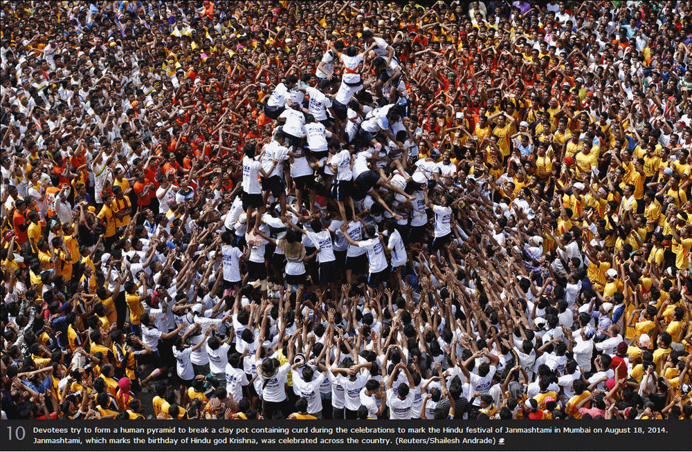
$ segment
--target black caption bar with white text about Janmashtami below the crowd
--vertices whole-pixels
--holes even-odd
[[[489,451],[677,450],[692,444],[689,422],[531,421],[3,421],[8,451],[152,451],[152,446],[218,451],[311,451],[357,446],[390,451],[409,446]],[[688,449],[688,448],[684,448]]]

